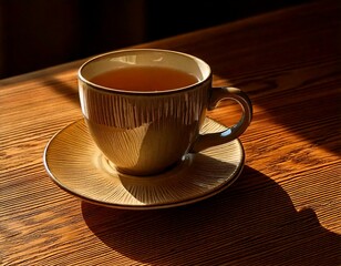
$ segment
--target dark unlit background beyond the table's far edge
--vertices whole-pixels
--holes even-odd
[[[0,0],[0,79],[309,1]]]

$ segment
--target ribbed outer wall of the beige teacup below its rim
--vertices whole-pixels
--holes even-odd
[[[205,119],[210,81],[166,93],[122,93],[80,82],[83,115],[95,143],[116,167],[135,175],[176,163]]]

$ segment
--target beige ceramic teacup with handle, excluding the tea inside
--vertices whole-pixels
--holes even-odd
[[[198,81],[167,91],[123,91],[94,84],[91,80],[117,68],[153,65],[195,75]],[[236,88],[211,88],[210,68],[189,54],[131,49],[99,55],[79,71],[82,112],[96,145],[117,171],[153,175],[176,164],[188,152],[198,152],[237,139],[248,127],[252,105]],[[242,108],[240,121],[221,133],[200,135],[206,110],[223,99]],[[228,151],[226,151],[228,152]]]

